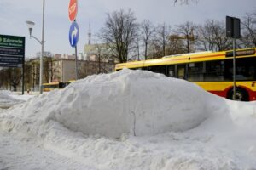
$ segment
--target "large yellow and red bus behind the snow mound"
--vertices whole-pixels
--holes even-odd
[[[256,48],[236,50],[236,100],[256,100]],[[233,97],[233,51],[179,54],[115,66],[141,69],[195,82],[212,94]]]

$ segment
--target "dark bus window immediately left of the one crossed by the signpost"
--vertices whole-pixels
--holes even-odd
[[[224,60],[206,62],[205,81],[224,81]]]

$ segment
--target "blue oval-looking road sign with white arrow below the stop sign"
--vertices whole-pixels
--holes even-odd
[[[76,47],[79,42],[79,25],[73,21],[69,28],[69,42],[71,47]]]

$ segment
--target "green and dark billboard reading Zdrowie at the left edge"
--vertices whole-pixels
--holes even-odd
[[[25,59],[25,37],[0,35],[0,66],[21,67]]]

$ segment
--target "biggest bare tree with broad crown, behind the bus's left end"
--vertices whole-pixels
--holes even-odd
[[[119,62],[128,60],[129,52],[136,40],[137,23],[134,14],[129,10],[115,11],[107,14],[105,27],[102,28],[101,37],[107,42],[108,48]]]

